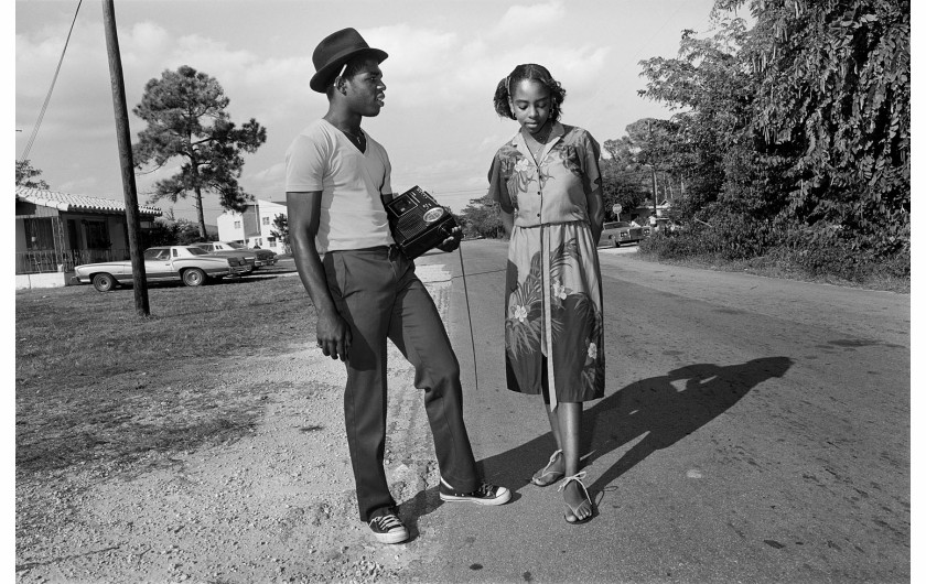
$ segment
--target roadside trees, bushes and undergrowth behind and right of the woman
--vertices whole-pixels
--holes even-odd
[[[640,63],[640,96],[676,113],[603,142],[606,220],[655,203],[682,228],[644,258],[908,292],[909,2],[718,0],[712,17]],[[471,202],[467,234],[496,237],[493,212]]]

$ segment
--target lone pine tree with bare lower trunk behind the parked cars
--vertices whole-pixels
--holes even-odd
[[[206,237],[203,195],[217,194],[224,208],[243,210],[254,201],[238,185],[243,153],[255,152],[267,141],[266,128],[254,118],[236,127],[225,111],[228,102],[215,78],[183,65],[149,80],[141,104],[133,109],[148,122],[133,145],[136,165],[141,169],[153,162],[161,167],[174,158],[183,160],[177,174],[155,183],[151,202],[175,203],[192,194],[202,238]]]

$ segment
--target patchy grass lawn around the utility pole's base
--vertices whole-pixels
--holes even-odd
[[[152,286],[149,303],[141,317],[129,288],[17,293],[18,479],[248,433],[268,388],[229,379],[314,334],[299,278]]]

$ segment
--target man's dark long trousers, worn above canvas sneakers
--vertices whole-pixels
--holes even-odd
[[[337,311],[351,326],[344,422],[360,520],[396,505],[383,467],[387,337],[414,366],[414,387],[424,390],[441,477],[457,491],[478,488],[460,364],[414,264],[395,246],[330,251],[323,263]]]

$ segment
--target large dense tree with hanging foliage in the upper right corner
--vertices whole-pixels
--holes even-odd
[[[743,6],[751,30],[720,19]],[[717,0],[713,15],[714,36],[643,62],[642,94],[679,110],[688,209],[908,255],[909,1]]]

